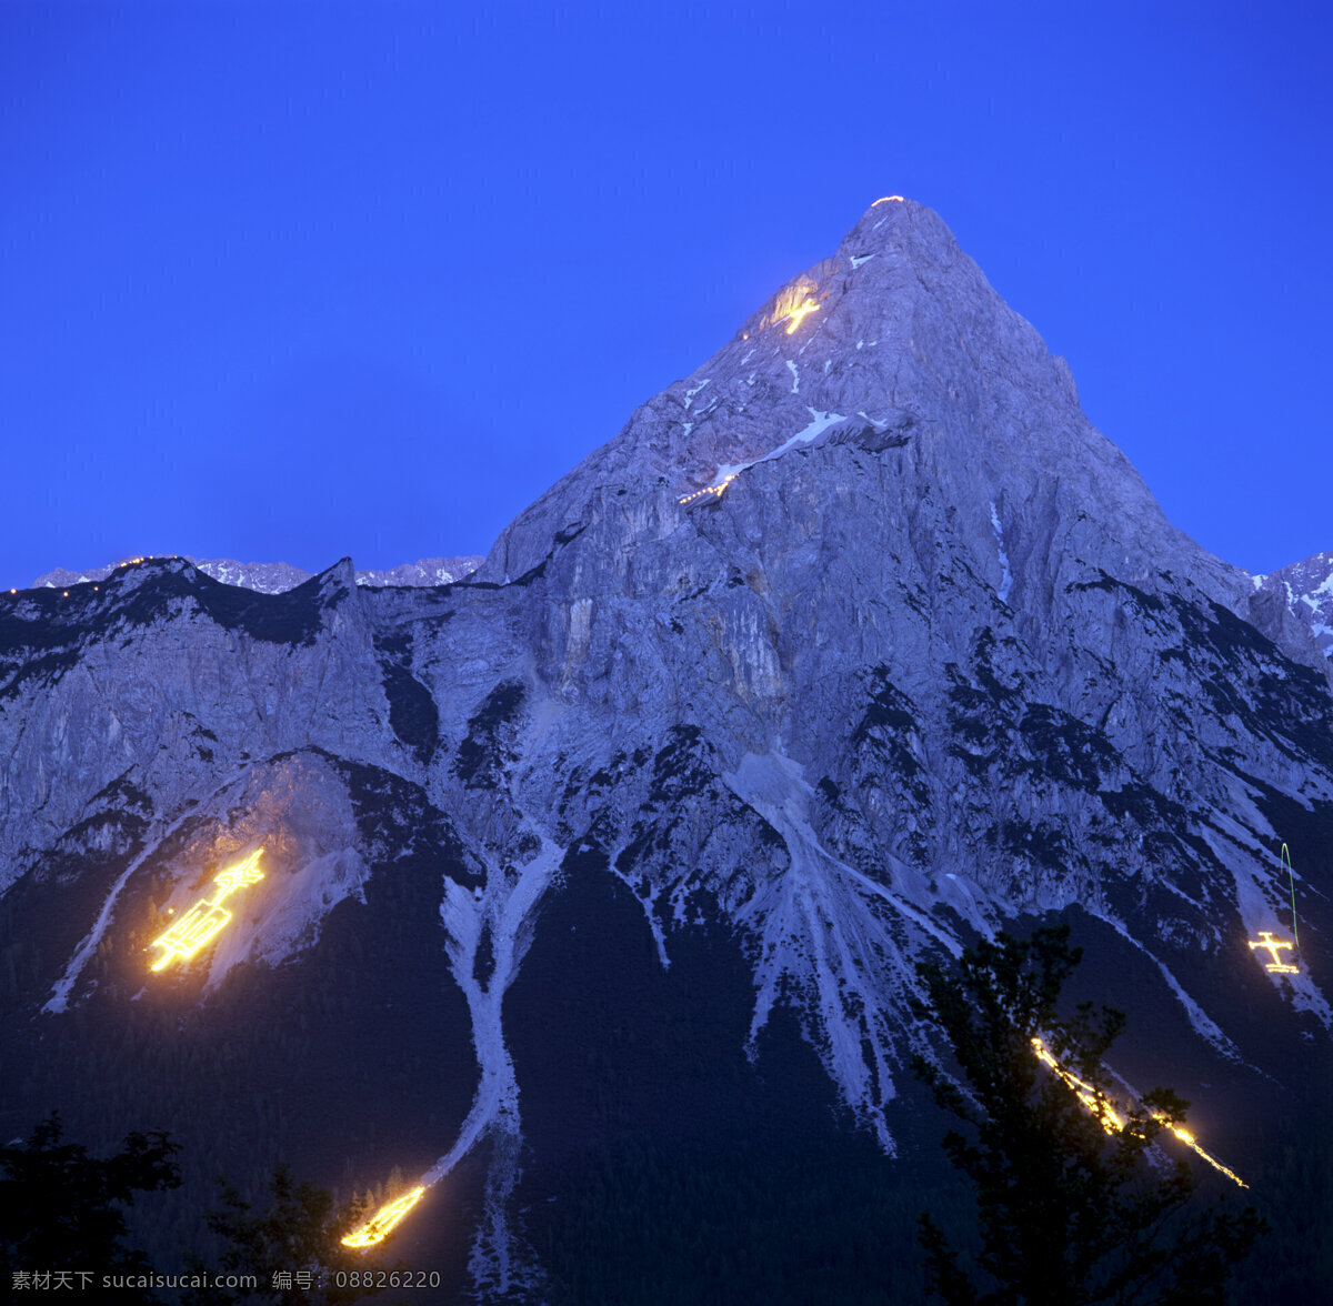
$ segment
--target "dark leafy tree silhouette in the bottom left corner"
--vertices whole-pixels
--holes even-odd
[[[0,1147],[0,1250],[13,1271],[83,1270],[152,1274],[141,1251],[127,1247],[124,1207],[136,1193],[180,1185],[179,1150],[165,1133],[133,1133],[113,1157],[89,1157],[61,1142],[57,1111],[25,1143]],[[151,1299],[140,1294],[139,1301]]]

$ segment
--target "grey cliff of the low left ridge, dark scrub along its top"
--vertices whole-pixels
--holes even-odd
[[[384,690],[353,665],[376,657],[347,562],[273,597],[184,560],[68,593],[23,590],[0,617],[0,792],[23,813],[0,833],[5,882],[121,776],[177,812],[255,757],[351,736],[367,760],[395,750]]]

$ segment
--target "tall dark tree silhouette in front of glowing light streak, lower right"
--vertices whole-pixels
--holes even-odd
[[[1102,1066],[1125,1017],[1092,1003],[1072,1019],[1057,1011],[1081,956],[1061,926],[981,942],[952,972],[918,966],[929,995],[920,1014],[942,1031],[968,1086],[913,1062],[936,1103],[969,1126],[944,1146],[974,1187],[974,1269],[929,1214],[918,1221],[928,1289],[950,1306],[1221,1302],[1232,1269],[1268,1227],[1253,1207],[1196,1209],[1194,1169],[1154,1147],[1184,1123],[1188,1103],[1174,1093],[1154,1089],[1114,1111]],[[1034,1038],[1081,1089],[1038,1059]]]

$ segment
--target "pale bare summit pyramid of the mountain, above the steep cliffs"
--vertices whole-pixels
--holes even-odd
[[[938,215],[898,197],[872,204],[832,257],[780,287],[712,358],[521,513],[479,576],[515,580],[608,513],[625,553],[737,493],[757,466],[768,476],[792,465],[788,454],[825,445],[901,449],[904,510],[941,497],[997,586],[1004,576],[1021,585],[1010,564],[1049,554],[1092,522],[1077,530],[1084,561],[1113,561],[1141,582],[1170,553],[1213,598],[1249,601],[1241,572],[1166,521],[1082,413],[1064,360]],[[1082,540],[1089,532],[1096,541]]]

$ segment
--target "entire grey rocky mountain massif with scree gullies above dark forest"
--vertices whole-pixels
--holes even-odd
[[[579,1071],[509,1022],[569,896],[596,904],[569,933],[637,918],[677,994],[738,973],[733,1050],[762,1071],[794,1019],[885,1153],[925,1049],[916,961],[1025,913],[1076,913],[1108,976],[1144,977],[1118,1005],[1176,1062],[1128,1070],[1221,1066],[1244,1095],[1328,1054],[1312,968],[1246,948],[1289,924],[1282,840],[1302,948],[1333,928],[1328,664],[1165,521],[928,209],[872,207],[463,584],[353,580],[248,594],[179,560],[0,596],[5,882],[79,902],[24,999],[115,1019],[141,980],[104,950],[139,956],[248,841],[276,841],[273,873],[204,1013],[319,968],[437,862],[433,983],[465,1010],[472,1098],[420,1169],[488,1158],[484,1293],[543,1273],[513,1222],[524,1102]],[[601,956],[557,942],[537,956]]]

